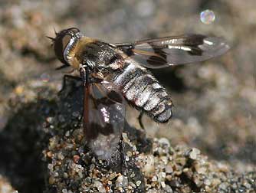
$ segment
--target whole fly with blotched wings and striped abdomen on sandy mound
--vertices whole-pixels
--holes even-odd
[[[67,28],[51,40],[63,63],[58,69],[73,67],[80,73],[64,75],[64,84],[67,78],[82,81],[84,133],[90,148],[103,159],[110,159],[120,141],[125,103],[141,112],[139,123],[143,113],[157,123],[172,116],[169,93],[147,69],[205,61],[229,49],[222,38],[202,34],[109,44]]]

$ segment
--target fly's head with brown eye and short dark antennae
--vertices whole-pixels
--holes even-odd
[[[56,57],[66,66],[72,66],[75,69],[78,68],[77,62],[75,62],[75,49],[80,38],[83,37],[80,34],[78,28],[67,28],[60,32],[55,32],[56,37],[50,38],[53,41],[54,52]]]

